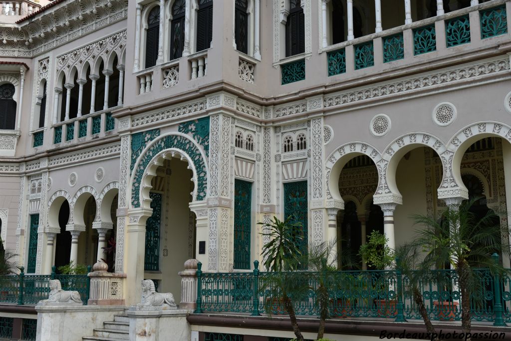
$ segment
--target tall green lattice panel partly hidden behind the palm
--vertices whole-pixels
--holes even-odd
[[[300,250],[307,254],[309,245],[307,181],[288,182],[284,184],[284,216],[291,216],[291,223],[301,223]]]

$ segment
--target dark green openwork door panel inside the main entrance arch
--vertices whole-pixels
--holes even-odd
[[[144,270],[159,270],[159,232],[161,222],[161,194],[150,192],[153,213],[146,222],[146,252],[144,256]]]

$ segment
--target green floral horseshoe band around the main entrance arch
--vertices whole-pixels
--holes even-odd
[[[206,165],[200,150],[190,138],[168,135],[159,139],[146,151],[136,169],[133,171],[134,181],[131,187],[131,204],[133,207],[140,207],[140,183],[147,165],[159,152],[170,148],[178,149],[190,157],[195,166],[195,171],[197,172],[197,197],[195,200],[201,201],[206,197]]]

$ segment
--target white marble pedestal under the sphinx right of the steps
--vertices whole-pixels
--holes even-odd
[[[191,309],[127,310],[130,341],[189,340],[190,325],[187,315]]]

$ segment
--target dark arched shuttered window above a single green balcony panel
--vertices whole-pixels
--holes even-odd
[[[305,52],[305,16],[301,0],[290,0],[286,21],[286,57]]]

